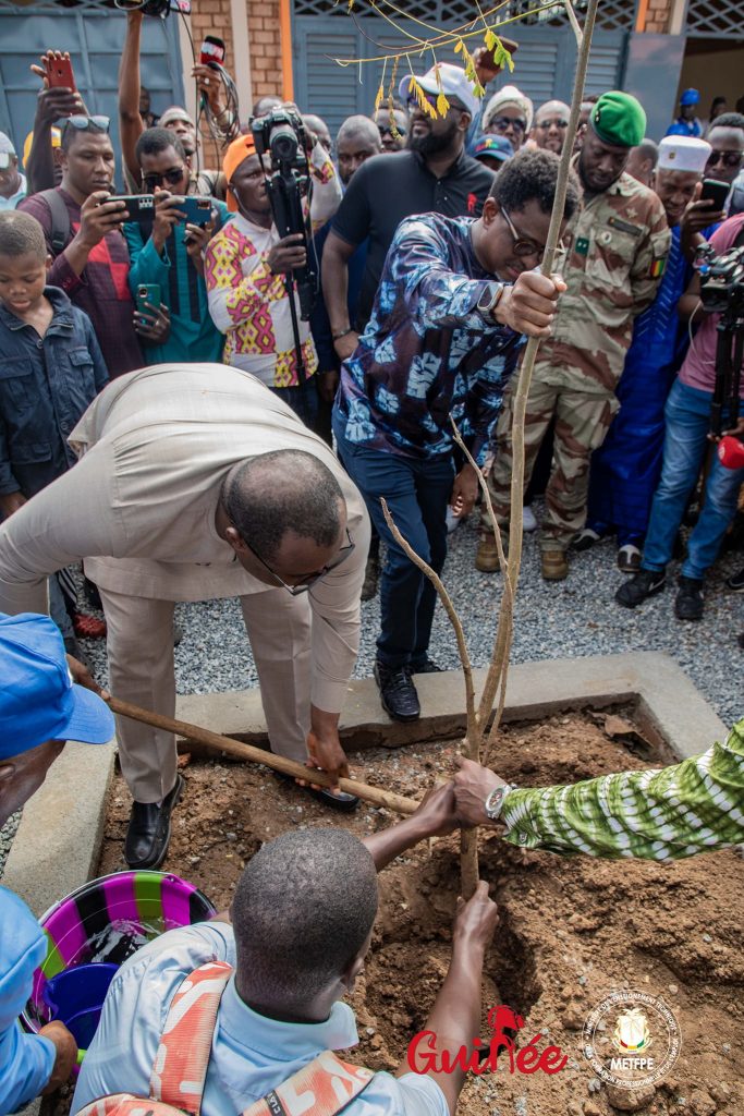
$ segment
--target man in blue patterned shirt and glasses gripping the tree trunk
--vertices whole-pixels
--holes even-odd
[[[428,657],[436,596],[393,539],[380,497],[404,538],[439,573],[447,503],[466,516],[477,494],[475,470],[465,464],[455,475],[450,415],[482,465],[523,335],[549,335],[564,289],[535,270],[558,165],[552,152],[515,156],[477,220],[425,213],[402,221],[369,325],[341,367],[339,453],[388,548],[375,677],[395,720],[419,715],[412,674],[437,670]],[[578,204],[572,179],[566,219]]]

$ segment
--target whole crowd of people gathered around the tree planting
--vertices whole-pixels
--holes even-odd
[[[588,98],[559,258],[544,276],[568,105],[535,107],[514,85],[483,104],[464,69],[439,64],[404,77],[395,104],[349,116],[334,138],[312,106],[279,97],[243,115],[216,71],[197,65],[223,148],[210,170],[189,113],[152,112],[142,18],[126,16],[120,152],[107,117],[89,115],[74,89],[48,86],[44,59],[22,172],[0,135],[0,820],[66,739],[112,735],[80,638],[106,637],[115,696],[174,715],[178,602],[240,598],[272,750],[338,780],[348,775],[338,722],[360,599],[379,589],[381,704],[395,720],[416,720],[415,676],[439,670],[429,654],[436,596],[383,501],[438,574],[484,473],[506,546],[528,337],[541,339],[524,483],[529,500],[545,474],[542,577],[567,578],[582,551],[615,535],[629,575],[616,600],[635,608],[664,589],[702,485],[675,602],[678,619],[699,619],[744,482],[744,468],[715,452],[722,434],[744,437],[744,422],[734,398],[715,394],[722,317],[702,297],[700,270],[706,252],[744,244],[744,116],[717,98],[703,125],[699,95],[686,90],[657,144],[631,95]],[[487,51],[475,66],[484,85],[494,77]],[[301,122],[309,189],[305,231],[283,235],[267,185],[271,156],[251,123],[287,107]],[[708,180],[717,190],[706,192]],[[308,266],[311,307],[289,281]],[[537,529],[530,516],[528,503]],[[493,525],[481,517],[474,562],[495,575]],[[744,577],[729,585],[743,588]],[[105,620],[85,612],[86,597]],[[289,1079],[318,1096],[336,1089],[355,1116],[454,1113],[460,1070],[365,1076],[326,1057],[355,1041],[339,1000],[369,947],[376,872],[463,825],[595,856],[666,859],[742,840],[741,730],[674,768],[572,788],[513,788],[463,761],[453,782],[366,848],[338,830],[267,845],[231,912],[164,935],[122,969],[74,1110],[112,1110],[96,1098],[127,1091],[197,1110],[177,1080],[201,1080],[206,1116],[252,1110]],[[125,859],[155,868],[185,791],[175,740],[125,718],[116,734],[133,799]],[[334,809],[358,801],[307,789]],[[290,878],[302,886],[283,886]],[[481,885],[456,916],[427,1024],[453,1051],[477,1033],[494,925]],[[13,1022],[44,940],[1,892],[0,942],[6,1113],[65,1080],[77,1050],[61,1024],[30,1037]],[[162,1042],[184,979],[218,977],[224,994],[200,1024],[219,1036],[206,1066],[190,1060],[187,1041]],[[166,1055],[167,1087],[153,1071]]]

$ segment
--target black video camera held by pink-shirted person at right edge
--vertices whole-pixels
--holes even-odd
[[[716,326],[715,387],[711,406],[711,433],[719,437],[724,417],[735,426],[740,410],[740,384],[744,357],[744,246],[716,256],[704,244],[695,261],[700,277],[700,301],[708,314],[719,314]]]

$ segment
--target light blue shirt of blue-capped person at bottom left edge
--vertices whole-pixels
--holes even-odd
[[[18,1016],[31,994],[47,940],[22,899],[0,887],[0,1116],[38,1097],[55,1068],[55,1045],[26,1035]]]

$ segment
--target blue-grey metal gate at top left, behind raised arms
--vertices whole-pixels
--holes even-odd
[[[89,113],[110,116],[118,147],[118,68],[126,17],[105,0],[41,0],[15,4],[0,0],[0,132],[20,153],[31,131],[39,79],[31,62],[47,49],[69,50],[78,88]],[[175,16],[143,21],[142,81],[153,110],[183,104],[183,78]]]

